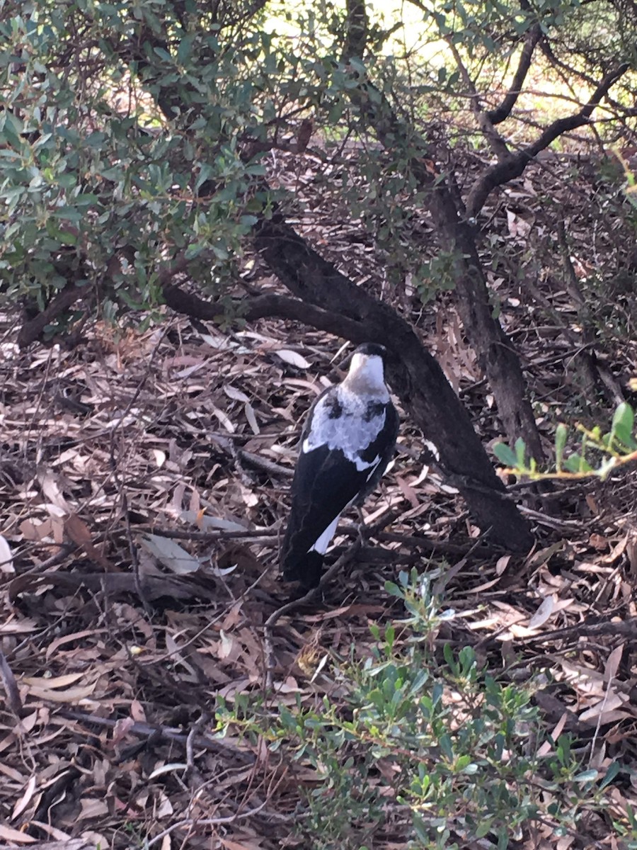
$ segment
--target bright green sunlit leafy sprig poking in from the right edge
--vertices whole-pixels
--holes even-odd
[[[532,479],[587,479],[606,476],[617,467],[637,460],[637,439],[634,433],[634,411],[626,402],[617,407],[613,414],[611,430],[602,433],[599,425],[585,428],[578,424],[581,434],[577,451],[567,453],[568,428],[562,422],[555,428],[555,470],[544,471],[538,463],[527,459],[527,446],[523,439],[516,439],[513,448],[505,443],[496,443],[493,454],[505,464],[505,473]]]

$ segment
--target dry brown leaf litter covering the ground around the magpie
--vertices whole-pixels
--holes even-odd
[[[311,173],[300,178],[297,161],[284,161],[302,201]],[[505,193],[491,211],[493,229],[503,244],[525,246],[527,222],[508,202]],[[303,235],[374,292],[379,258],[353,238],[357,225],[343,214],[338,229],[325,227],[311,210]],[[568,413],[571,343],[560,327],[539,327],[533,304],[507,292],[504,278],[491,283],[529,382],[544,394],[539,420],[550,433]],[[399,309],[407,297],[397,295]],[[567,292],[553,304],[569,317]],[[493,405],[448,295],[438,307],[420,311],[420,333],[488,444],[500,436]],[[234,733],[216,739],[210,719],[220,697],[265,682],[264,624],[286,601],[276,555],[300,423],[339,378],[330,365],[338,341],[275,320],[230,333],[166,317],[160,330],[117,336],[97,324],[82,347],[20,352],[14,317],[0,324],[11,352],[0,362],[0,649],[3,689],[13,678],[17,693],[0,702],[0,841],[302,847],[298,786],[313,787],[316,774]],[[607,356],[619,367],[637,360],[628,343]],[[274,629],[279,700],[337,699],[332,654],[347,657],[353,645],[366,657],[369,624],[402,615],[384,582],[442,565],[437,587],[453,612],[445,640],[479,645],[496,673],[507,658],[548,667],[552,683],[537,699],[554,739],[587,730],[595,770],[617,754],[635,766],[635,474],[558,488],[533,514],[537,550],[519,558],[476,545],[457,492],[435,464],[423,471],[423,447],[403,415],[397,461],[365,507],[368,524],[380,523],[369,546],[324,604]],[[523,490],[516,496],[527,501]],[[343,519],[334,556],[355,537]],[[637,806],[632,786],[612,794],[619,808]],[[375,847],[403,847],[403,827],[395,819]],[[582,846],[571,838],[540,829],[533,847]],[[614,841],[595,835],[597,847],[621,846]]]

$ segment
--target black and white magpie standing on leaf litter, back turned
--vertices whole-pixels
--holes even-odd
[[[287,581],[316,587],[342,511],[363,504],[392,460],[398,415],[385,385],[386,349],[358,346],[347,377],[314,402],[291,487],[281,549]]]

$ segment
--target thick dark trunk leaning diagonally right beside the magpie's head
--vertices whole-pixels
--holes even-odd
[[[477,524],[501,545],[527,551],[533,541],[527,520],[506,496],[465,408],[408,322],[320,257],[280,214],[256,224],[256,247],[290,292],[318,309],[307,311],[308,324],[313,325],[318,316],[321,328],[330,330],[333,321],[331,332],[340,335],[346,330],[345,317],[355,333],[354,337],[346,333],[346,338],[357,343],[364,338],[386,346],[392,387],[414,422],[437,445],[443,471],[464,496]],[[272,303],[276,308],[281,302]],[[287,309],[285,302],[284,307]]]

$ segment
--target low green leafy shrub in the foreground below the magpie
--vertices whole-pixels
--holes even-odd
[[[504,850],[538,821],[567,835],[584,807],[603,808],[621,763],[587,769],[567,734],[552,740],[533,679],[499,679],[470,647],[437,650],[454,613],[438,610],[429,579],[403,573],[386,590],[406,616],[382,633],[372,627],[373,655],[352,647],[324,668],[337,702],[289,708],[243,695],[217,714],[220,730],[313,768],[297,812],[306,846],[362,850],[407,822],[409,847],[453,850],[487,836]]]

